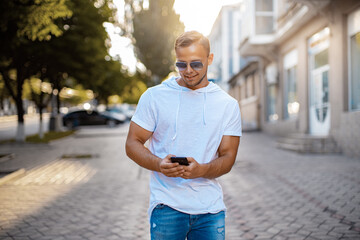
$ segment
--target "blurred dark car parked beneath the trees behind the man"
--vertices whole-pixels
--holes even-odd
[[[63,116],[63,124],[69,129],[86,125],[108,125],[114,127],[124,123],[126,116],[112,112],[98,112],[96,110],[78,110]]]

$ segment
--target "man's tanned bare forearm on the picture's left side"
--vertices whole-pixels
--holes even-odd
[[[136,140],[128,140],[125,148],[128,157],[141,167],[159,172],[159,163],[161,158],[152,154],[149,149],[144,146],[144,144]]]

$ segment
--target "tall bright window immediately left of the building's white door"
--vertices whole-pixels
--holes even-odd
[[[296,66],[298,54],[293,50],[284,57],[284,118],[296,117],[299,112],[299,102],[296,91]]]

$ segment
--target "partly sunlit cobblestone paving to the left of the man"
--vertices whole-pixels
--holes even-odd
[[[98,158],[56,159],[0,186],[0,239],[149,239],[146,171],[125,158],[123,135],[96,136],[60,147]]]

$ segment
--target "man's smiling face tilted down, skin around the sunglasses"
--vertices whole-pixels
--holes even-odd
[[[198,43],[191,44],[188,47],[178,48],[176,50],[176,61],[187,64],[185,70],[181,71],[179,69],[181,76],[179,84],[192,90],[206,87],[208,85],[207,69],[208,65],[212,63],[212,60],[213,54],[207,56],[205,48]],[[203,68],[194,70],[190,66],[192,62],[201,62]]]

